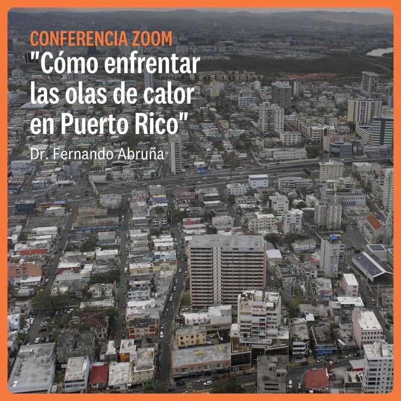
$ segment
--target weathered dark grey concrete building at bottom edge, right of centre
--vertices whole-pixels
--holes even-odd
[[[285,393],[288,355],[258,356],[258,393]]]

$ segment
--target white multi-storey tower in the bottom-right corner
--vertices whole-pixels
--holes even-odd
[[[394,345],[379,340],[363,345],[363,350],[365,358],[361,392],[390,392],[394,382]]]

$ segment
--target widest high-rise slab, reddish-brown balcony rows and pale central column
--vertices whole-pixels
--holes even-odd
[[[191,304],[235,304],[244,288],[266,286],[262,236],[194,235],[189,242]]]

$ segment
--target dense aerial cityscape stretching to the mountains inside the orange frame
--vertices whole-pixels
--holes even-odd
[[[8,24],[9,391],[392,391],[391,14],[15,9]],[[45,73],[33,57],[60,51],[34,30],[94,29],[172,42],[63,57],[135,50],[196,72]],[[135,104],[113,102],[122,81]],[[108,92],[32,101],[51,87]],[[138,113],[177,132],[139,132]]]

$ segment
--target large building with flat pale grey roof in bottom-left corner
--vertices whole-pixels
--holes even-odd
[[[55,377],[55,343],[21,346],[10,373],[13,393],[50,393]]]

